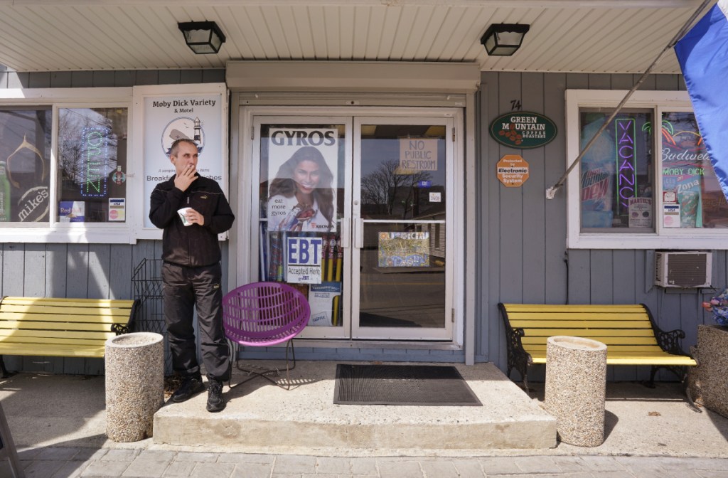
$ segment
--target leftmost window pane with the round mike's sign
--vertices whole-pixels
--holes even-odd
[[[51,112],[0,109],[0,222],[49,222]]]

